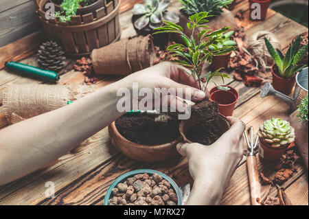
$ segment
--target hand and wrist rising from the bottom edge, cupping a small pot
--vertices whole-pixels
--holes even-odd
[[[211,146],[199,143],[177,145],[179,153],[187,157],[190,174],[194,179],[194,189],[187,201],[188,205],[218,204],[227,183],[242,160],[242,133],[245,124],[235,117],[227,119],[231,122],[231,128]]]

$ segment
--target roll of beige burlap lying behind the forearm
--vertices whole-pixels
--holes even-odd
[[[11,124],[66,106],[94,91],[93,86],[10,84],[4,89],[3,111]]]

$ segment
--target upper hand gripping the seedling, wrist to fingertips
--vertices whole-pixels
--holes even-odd
[[[181,89],[181,93],[175,93],[175,95],[168,94],[163,98],[168,100],[168,104],[176,102],[177,104],[183,104],[182,100],[177,98],[188,99],[196,102],[209,98],[209,92],[207,89],[201,91],[198,89],[198,83],[194,80],[193,76],[189,76],[185,71],[180,69],[180,65],[176,65],[172,62],[161,62],[158,65],[138,71],[123,79],[126,83],[126,87],[132,89],[133,82],[137,82],[139,89],[148,88],[152,93],[155,93],[157,89]],[[181,67],[184,69],[184,67]],[[187,71],[190,72],[190,71]]]

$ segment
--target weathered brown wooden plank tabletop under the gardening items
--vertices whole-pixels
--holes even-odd
[[[127,3],[128,1],[123,1]],[[132,2],[132,1],[130,1]],[[238,21],[243,26],[247,36],[251,36],[260,30],[273,32],[286,49],[290,41],[297,34],[308,31],[304,26],[291,21],[282,14],[268,10],[266,21],[252,22],[249,17],[248,1],[236,0],[236,8],[233,15],[243,10],[244,20]],[[128,5],[123,5],[127,10]],[[122,38],[135,34],[130,23],[130,10],[120,16],[122,25]],[[0,48],[1,49],[1,48]],[[1,55],[0,55],[1,56]],[[0,58],[1,60],[1,58]],[[34,56],[24,58],[21,62],[36,65]],[[98,87],[114,82],[117,78],[104,76],[98,82]],[[84,76],[81,72],[69,71],[65,73],[58,84],[76,83],[81,84]],[[0,100],[5,84],[39,84],[41,82],[30,78],[23,78],[4,69],[0,71]],[[273,96],[262,99],[259,95],[260,88],[245,87],[242,82],[231,80],[227,83],[236,88],[240,98],[236,105],[233,116],[242,119],[247,127],[253,126],[258,130],[259,125],[271,117],[287,119],[289,112],[288,104]],[[3,108],[0,106],[0,127],[8,126],[3,117]],[[244,145],[244,148],[247,146]],[[222,205],[250,205],[250,193],[247,176],[246,157],[242,159],[238,169],[231,178],[229,186],[222,196]],[[25,176],[17,181],[0,187],[0,205],[102,205],[106,190],[109,185],[121,174],[130,170],[150,168],[159,170],[171,176],[179,186],[192,182],[187,168],[187,160],[179,157],[172,161],[153,163],[141,163],[124,157],[115,150],[108,140],[107,128],[104,128],[93,137],[87,139],[68,154],[60,157],[56,163]],[[258,161],[258,168],[266,176],[273,177],[275,170],[271,170]],[[290,196],[294,205],[308,205],[308,171],[304,164],[297,164],[297,172],[293,174],[282,186]],[[53,182],[56,195],[54,198],[45,198],[47,182]],[[262,195],[267,187],[262,187]],[[271,190],[273,196],[277,190]]]

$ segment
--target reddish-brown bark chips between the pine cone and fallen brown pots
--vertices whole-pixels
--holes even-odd
[[[76,65],[74,65],[75,71],[82,71],[84,73],[84,84],[95,84],[98,82],[98,78],[95,77],[93,72],[93,65],[91,58],[82,57],[76,60]]]

